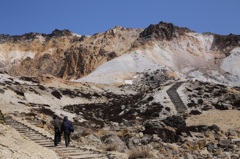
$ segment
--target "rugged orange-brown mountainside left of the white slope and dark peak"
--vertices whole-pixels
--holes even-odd
[[[54,30],[48,35],[1,35],[1,69],[19,76],[50,74],[76,79],[122,55],[140,31],[115,27],[92,36],[80,36],[68,30]]]

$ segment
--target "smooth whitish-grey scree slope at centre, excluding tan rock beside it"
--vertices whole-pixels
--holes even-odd
[[[93,83],[123,83],[124,80],[133,79],[138,72],[146,72],[164,68],[162,63],[167,63],[171,58],[161,48],[155,47],[153,50],[141,51],[137,50],[129,54],[115,58],[101,66],[86,77],[77,82],[93,82]],[[161,56],[163,55],[163,56]]]

